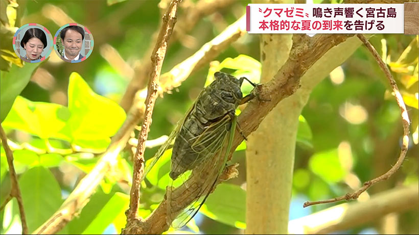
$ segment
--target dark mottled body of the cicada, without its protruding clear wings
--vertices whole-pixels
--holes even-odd
[[[230,131],[231,122],[225,121],[226,115],[234,115],[243,98],[243,80],[222,72],[214,76],[216,80],[201,91],[176,137],[169,174],[172,179],[214,153],[223,139],[220,137]]]

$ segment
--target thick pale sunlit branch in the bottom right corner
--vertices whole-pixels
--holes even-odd
[[[373,222],[389,213],[417,210],[417,185],[400,187],[373,195],[366,201],[347,202],[291,220],[290,234],[330,234]]]

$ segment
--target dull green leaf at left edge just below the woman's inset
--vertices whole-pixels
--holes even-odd
[[[5,120],[7,114],[12,108],[15,98],[28,85],[32,73],[41,64],[26,63],[23,68],[19,68],[15,64],[12,65],[9,72],[0,71],[0,119]]]

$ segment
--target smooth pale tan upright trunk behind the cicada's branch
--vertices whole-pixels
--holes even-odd
[[[290,34],[261,36],[261,83],[269,82],[288,59],[291,38]],[[283,111],[281,105],[278,105],[248,137],[246,149],[246,233],[248,234],[287,232],[288,206],[291,199],[289,186],[294,165],[294,158],[289,156],[294,156],[294,147],[287,145],[284,139],[295,139],[295,133],[284,133],[293,129],[284,127],[295,123],[283,123],[284,120],[280,118],[285,115]],[[298,114],[296,114],[297,120]],[[278,151],[280,149],[281,152]]]

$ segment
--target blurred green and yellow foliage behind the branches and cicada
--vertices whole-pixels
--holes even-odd
[[[164,6],[165,2],[1,0],[2,121],[14,97],[20,94],[2,125],[13,143],[14,163],[30,232],[57,210],[91,170],[97,156],[106,149],[110,137],[124,121],[125,112],[118,103],[134,74],[149,60],[147,51],[154,46],[152,35],[158,30],[162,12],[159,6]],[[202,2],[184,0],[178,21]],[[184,34],[171,41],[161,72],[169,71],[235,22],[245,13],[248,3],[250,1],[226,1],[211,14],[203,13],[191,29],[185,29]],[[85,25],[95,39],[92,54],[76,64],[61,61],[55,52],[44,62],[23,64],[13,58],[11,37],[17,28],[31,22],[44,25],[53,36],[65,23]],[[395,186],[418,184],[418,38],[382,34],[373,35],[370,42],[390,66],[411,120],[409,151],[403,167],[388,180],[370,188],[368,195],[373,195]],[[259,36],[245,34],[214,60],[222,62],[239,55],[259,61]],[[249,58],[246,60],[254,63]],[[170,134],[203,88],[208,69],[209,64],[203,66],[179,88],[157,99],[149,140]],[[11,77],[13,83],[10,83]],[[251,79],[258,81],[259,77]],[[400,153],[402,125],[400,110],[389,88],[377,62],[361,46],[314,89],[300,116],[291,220],[331,206],[303,209],[304,201],[352,192],[361,182],[386,172],[394,164]],[[6,156],[3,147],[1,150],[0,204],[10,192]],[[147,149],[146,159],[156,150],[157,147]],[[120,155],[118,167],[101,182],[80,216],[61,233],[119,233],[125,226],[124,213],[132,180],[131,148],[128,146]],[[240,163],[239,177],[220,185],[201,210],[206,216],[198,214],[195,218],[198,226],[191,224],[184,232],[242,232],[240,228],[245,226],[244,150],[236,151],[232,162]],[[141,215],[148,215],[161,201],[165,185],[159,180],[167,173],[168,166],[162,164],[154,181],[148,179],[157,187],[143,189]],[[220,198],[224,207],[232,206],[234,210],[214,208]],[[214,218],[214,215],[218,221],[207,217]],[[400,234],[418,233],[418,220],[418,210],[414,208],[397,215],[391,228]],[[382,221],[337,232],[383,233]],[[1,212],[0,222],[2,234],[19,232],[15,200]]]

